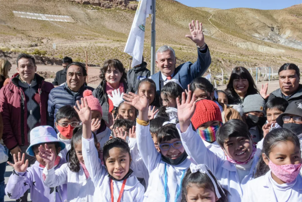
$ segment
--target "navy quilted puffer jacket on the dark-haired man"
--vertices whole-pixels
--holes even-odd
[[[58,86],[52,89],[48,96],[48,117],[47,125],[53,126],[56,129],[54,123],[56,122],[56,112],[65,105],[76,106],[76,101],[81,101],[84,90],[93,91],[94,88],[83,85],[76,95],[72,94],[72,91],[66,87],[66,85]]]

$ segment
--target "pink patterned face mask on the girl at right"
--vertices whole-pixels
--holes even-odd
[[[297,178],[301,170],[301,166],[301,163],[278,166],[271,162],[271,160],[269,160],[268,163],[268,167],[271,169],[271,172],[274,173],[277,178],[286,183],[292,182]]]

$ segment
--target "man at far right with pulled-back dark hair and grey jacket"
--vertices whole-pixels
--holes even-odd
[[[278,71],[279,86],[277,90],[272,92],[268,99],[274,97],[282,97],[288,102],[302,99],[302,85],[300,82],[300,70],[297,65],[285,63]]]

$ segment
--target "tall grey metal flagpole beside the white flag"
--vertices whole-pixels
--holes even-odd
[[[155,36],[156,36],[156,32],[155,32],[155,11],[156,11],[156,7],[155,7],[155,2],[156,0],[152,0],[152,16],[151,16],[151,75],[155,74]]]

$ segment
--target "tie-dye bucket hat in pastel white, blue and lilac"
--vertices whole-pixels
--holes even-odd
[[[30,156],[35,156],[33,146],[37,144],[45,144],[49,142],[58,142],[61,150],[65,149],[64,142],[58,140],[56,131],[50,126],[38,126],[33,128],[30,133],[31,145],[26,150],[26,153]]]

